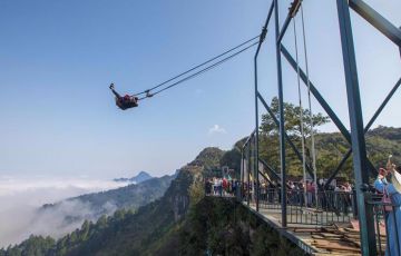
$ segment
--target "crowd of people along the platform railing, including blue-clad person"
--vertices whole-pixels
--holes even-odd
[[[372,203],[374,211],[383,214],[383,224],[387,230],[385,255],[401,256],[401,167],[395,167],[389,158],[387,168],[380,168],[371,193],[376,200]],[[320,179],[312,180],[293,178],[286,183],[287,205],[301,207],[319,207],[336,214],[358,215],[356,193],[354,185],[348,181],[331,183]],[[213,177],[205,180],[205,193],[208,196],[242,197],[243,200],[255,200],[256,183],[241,183],[228,177]],[[260,201],[262,204],[281,203],[281,184],[260,180]],[[379,198],[379,199],[378,199]],[[378,215],[375,216],[378,218]],[[379,219],[375,219],[379,221]]]

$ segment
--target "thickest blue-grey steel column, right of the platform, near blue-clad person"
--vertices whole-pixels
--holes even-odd
[[[351,122],[353,168],[361,229],[361,250],[364,256],[376,255],[374,221],[372,221],[372,219],[374,219],[373,210],[365,203],[365,194],[362,191],[362,186],[369,184],[369,173],[350,9],[348,0],[336,0],[336,4]]]

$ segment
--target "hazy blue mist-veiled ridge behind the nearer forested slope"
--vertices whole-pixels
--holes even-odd
[[[43,205],[36,218],[46,225],[46,218],[55,219],[48,229],[60,232],[52,235],[66,234],[79,227],[84,220],[96,221],[101,215],[110,215],[117,209],[136,209],[162,197],[175,176],[151,178],[139,184],[81,195],[66,200]]]

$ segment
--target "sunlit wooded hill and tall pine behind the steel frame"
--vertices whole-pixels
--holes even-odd
[[[272,112],[278,118],[278,101],[273,98],[270,105]],[[292,104],[284,102],[285,128],[288,138],[293,141],[302,155],[302,135],[301,135],[301,109]],[[330,119],[322,114],[313,115],[313,127],[311,128],[309,110],[303,110],[303,128],[305,138],[306,163],[312,166],[311,131],[314,131],[315,152],[316,152],[316,173],[317,178],[329,178],[338,168],[343,156],[348,154],[351,145],[340,132],[320,132],[319,128],[323,124],[330,122]],[[260,157],[270,164],[276,173],[280,171],[280,140],[278,127],[274,119],[268,115],[263,115],[260,127]],[[241,148],[246,139],[238,140],[232,150],[222,158],[222,165],[228,165],[239,174],[241,169]],[[373,167],[379,169],[385,167],[389,155],[392,155],[392,161],[401,165],[401,128],[379,126],[371,129],[365,135],[368,158]],[[247,151],[245,152],[247,154]],[[290,144],[285,144],[286,171],[290,177],[302,177],[302,161],[295,155]],[[239,176],[237,176],[239,177]],[[340,169],[339,176],[343,179],[353,181],[352,154]]]

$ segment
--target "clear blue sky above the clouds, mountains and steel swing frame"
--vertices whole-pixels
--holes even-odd
[[[231,148],[254,128],[254,50],[129,111],[116,108],[108,85],[140,91],[256,36],[270,2],[0,1],[0,175],[163,175],[204,147]],[[283,22],[290,1],[281,2]],[[366,2],[401,24],[400,1]],[[335,1],[305,1],[304,11],[311,80],[348,126]],[[368,120],[401,61],[392,42],[352,20]],[[294,52],[292,29],[284,43]],[[277,91],[272,47],[270,33],[260,61],[266,99]],[[296,73],[284,59],[283,75],[285,100],[296,102]],[[400,107],[397,92],[375,125],[400,127]],[[313,109],[321,111],[315,101]]]

